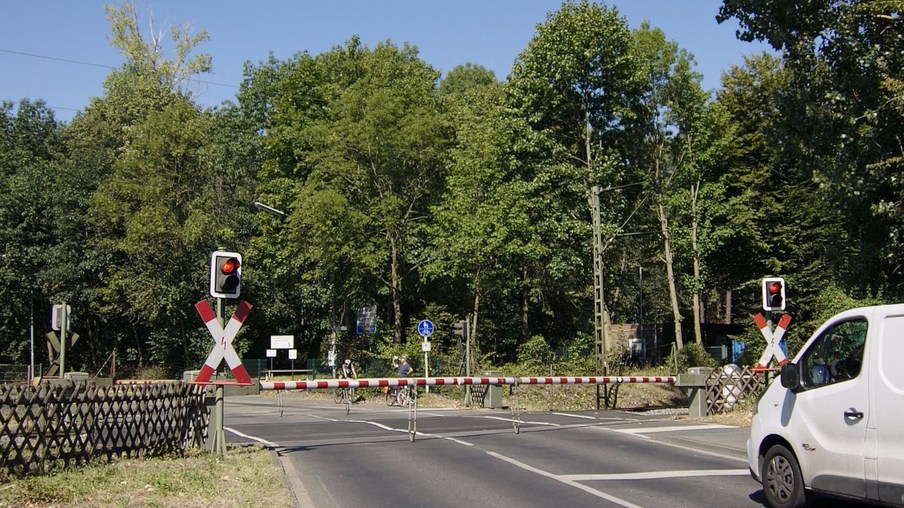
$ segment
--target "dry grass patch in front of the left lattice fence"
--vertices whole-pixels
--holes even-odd
[[[291,507],[282,469],[259,446],[225,457],[193,450],[186,457],[124,459],[13,479],[0,486],[0,507]]]

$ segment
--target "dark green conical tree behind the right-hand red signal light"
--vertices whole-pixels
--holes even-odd
[[[762,54],[723,75],[718,102],[734,125],[720,180],[738,234],[716,259],[719,272],[732,274],[730,286],[744,289],[737,304],[759,308],[762,277],[789,282],[789,312],[801,321],[818,312],[819,293],[844,280],[855,263],[842,209],[814,182],[807,158],[793,136],[782,107],[793,95],[792,76],[782,62]],[[792,156],[792,154],[794,154]],[[746,297],[742,295],[747,295]]]

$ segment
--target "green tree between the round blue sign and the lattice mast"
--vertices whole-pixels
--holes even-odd
[[[432,256],[424,270],[428,278],[462,281],[467,288],[473,358],[488,350],[481,333],[493,321],[485,319],[484,309],[492,315],[508,294],[520,299],[520,322],[488,328],[493,333],[487,338],[495,339],[490,350],[514,352],[504,340],[506,328],[520,330],[520,336],[507,337],[515,344],[530,337],[531,277],[554,258],[542,241],[548,212],[542,205],[548,203],[535,199],[540,196],[532,189],[532,179],[548,164],[551,143],[506,107],[505,93],[503,86],[489,85],[447,98],[455,144],[445,192],[432,210]]]

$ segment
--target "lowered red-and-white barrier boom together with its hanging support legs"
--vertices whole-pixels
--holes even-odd
[[[677,376],[584,376],[584,377],[421,377],[421,378],[371,378],[371,379],[324,379],[298,381],[261,381],[261,391],[265,390],[329,390],[336,388],[382,388],[420,386],[471,386],[509,385],[512,387],[512,401],[509,404],[512,426],[516,434],[521,433],[521,404],[518,402],[519,385],[608,385],[622,383],[668,383],[675,384]],[[417,434],[417,390],[413,389],[408,402],[408,439],[414,441]],[[282,415],[282,399],[280,416]],[[346,404],[351,404],[350,400]],[[348,411],[348,407],[346,410]]]

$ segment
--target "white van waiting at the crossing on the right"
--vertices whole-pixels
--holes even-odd
[[[904,506],[904,304],[842,312],[754,409],[747,460],[774,507],[814,492]]]

